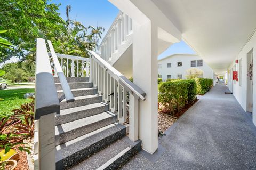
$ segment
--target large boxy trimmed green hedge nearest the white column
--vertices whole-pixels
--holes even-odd
[[[159,87],[158,102],[171,114],[196,99],[195,80],[171,79]]]

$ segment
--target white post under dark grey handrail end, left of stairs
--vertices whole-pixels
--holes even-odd
[[[55,170],[55,114],[38,120],[39,169]]]

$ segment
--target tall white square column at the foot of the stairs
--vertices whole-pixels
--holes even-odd
[[[158,148],[157,39],[157,26],[150,20],[143,25],[133,22],[133,83],[147,94],[145,101],[139,101],[139,138],[149,153]]]

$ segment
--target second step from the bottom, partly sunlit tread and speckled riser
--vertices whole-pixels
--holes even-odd
[[[70,168],[125,136],[126,127],[110,124],[56,146],[56,169]],[[83,168],[82,168],[83,169]]]

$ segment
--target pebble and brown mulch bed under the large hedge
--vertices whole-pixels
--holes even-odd
[[[164,133],[176,120],[181,117],[195,102],[186,104],[186,106],[181,109],[179,112],[175,112],[174,115],[169,115],[169,112],[166,110],[158,111],[158,130],[161,133]]]

